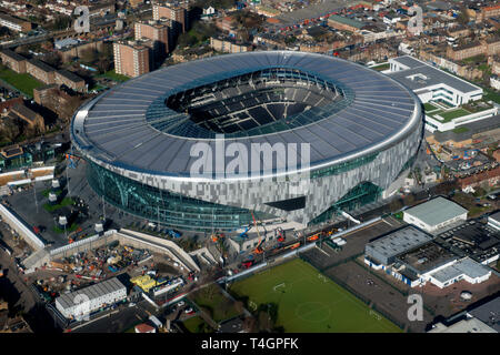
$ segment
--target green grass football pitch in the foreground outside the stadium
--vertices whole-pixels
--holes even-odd
[[[278,305],[277,326],[288,333],[398,333],[392,322],[300,258],[271,267],[230,287],[248,307]]]

